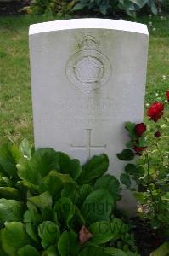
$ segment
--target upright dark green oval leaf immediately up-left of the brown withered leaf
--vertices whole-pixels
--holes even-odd
[[[67,197],[62,197],[54,204],[54,211],[57,212],[59,222],[69,227],[70,220],[75,214],[75,206]]]

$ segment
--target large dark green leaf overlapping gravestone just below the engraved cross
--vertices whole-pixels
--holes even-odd
[[[82,166],[82,174],[78,179],[78,183],[92,183],[97,177],[104,175],[109,167],[109,159],[106,154],[93,156],[91,160]]]

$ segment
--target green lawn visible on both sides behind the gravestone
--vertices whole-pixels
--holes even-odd
[[[43,16],[0,17],[0,138],[33,142],[28,28],[53,20]],[[164,100],[169,90],[169,16],[138,18],[149,26],[146,103]],[[154,28],[154,29],[153,29]],[[165,77],[163,77],[165,76]],[[156,95],[158,94],[158,96]]]

